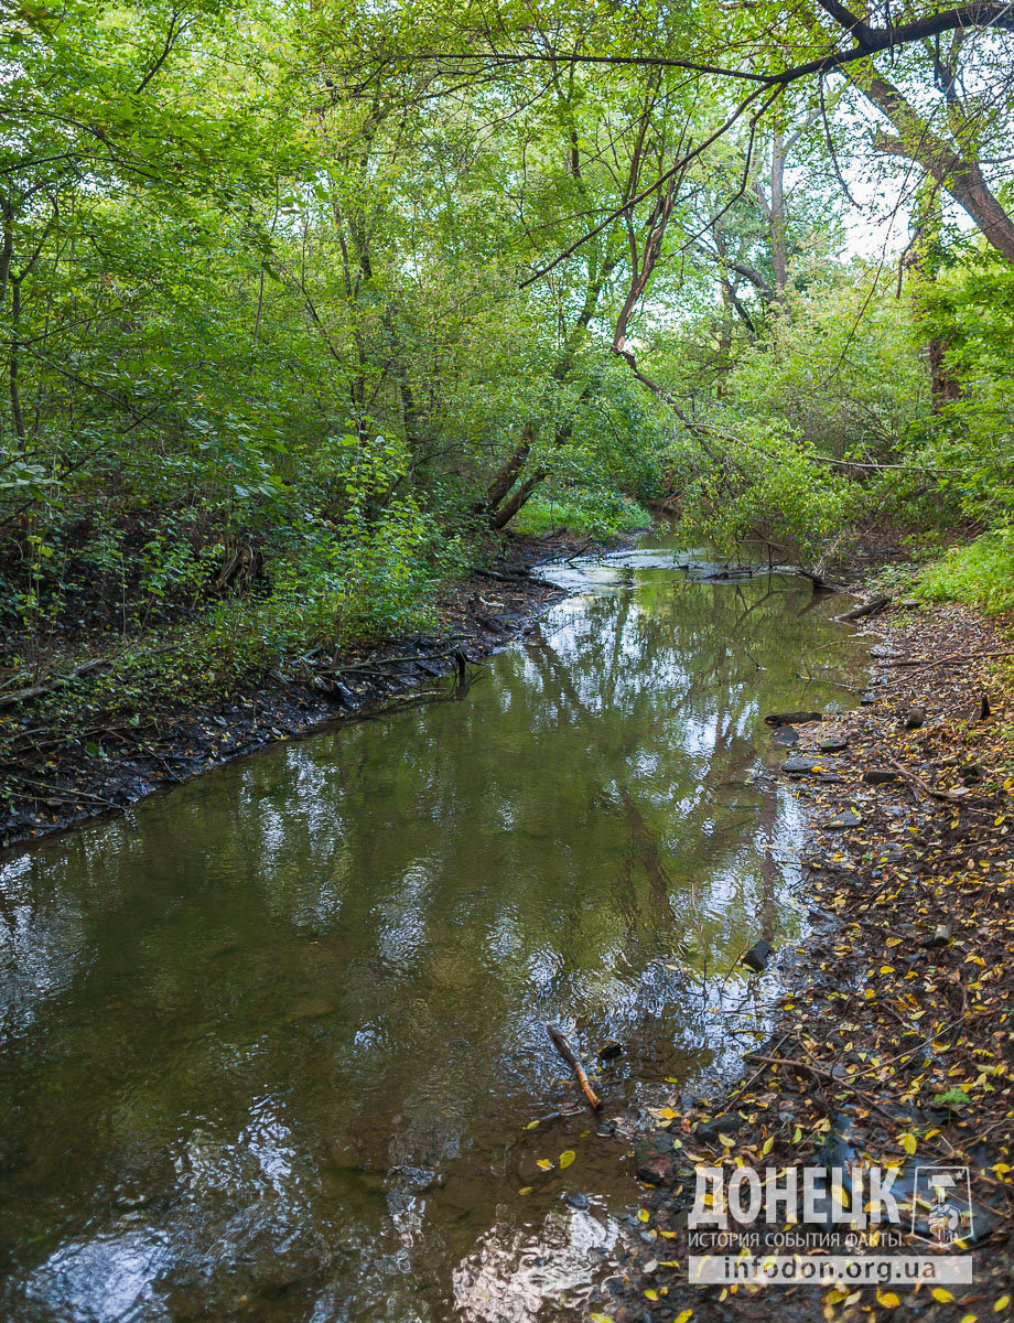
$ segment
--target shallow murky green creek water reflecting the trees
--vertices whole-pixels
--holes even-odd
[[[0,860],[0,1316],[580,1299],[636,1199],[599,1131],[743,1050],[722,980],[802,925],[763,716],[851,705],[863,656],[806,581],[689,560],[550,570],[576,595],[467,689]],[[600,1117],[547,1023],[624,1045]]]

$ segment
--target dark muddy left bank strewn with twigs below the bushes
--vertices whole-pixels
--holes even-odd
[[[77,676],[63,664],[44,692],[13,701],[0,689],[0,847],[30,841],[87,818],[123,810],[218,763],[324,722],[391,706],[452,701],[473,664],[504,647],[566,594],[535,568],[588,549],[563,531],[510,540],[502,561],[473,570],[434,603],[428,634],[315,648],[251,675],[227,692],[193,701],[123,703],[102,665]],[[115,660],[118,638],[108,639]],[[159,639],[151,644],[157,664]],[[442,676],[457,673],[456,689]],[[69,676],[61,680],[59,676]],[[102,677],[102,683],[93,683]],[[194,683],[197,688],[197,680]]]

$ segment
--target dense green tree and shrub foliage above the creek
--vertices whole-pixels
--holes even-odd
[[[110,631],[143,655],[127,640],[169,630],[181,656],[201,640],[217,685],[431,623],[504,528],[612,533],[653,501],[687,537],[761,537],[809,566],[870,520],[961,523],[992,538],[962,582],[1001,573],[1014,269],[1003,226],[910,131],[943,87],[955,160],[994,152],[1006,29],[902,42],[899,111],[874,58],[758,82],[785,50],[849,45],[773,4],[492,13],[13,11],[12,676]],[[958,65],[989,94],[957,98]],[[874,112],[890,142],[870,140]],[[880,189],[891,163],[925,180],[900,267],[843,251],[871,161]]]

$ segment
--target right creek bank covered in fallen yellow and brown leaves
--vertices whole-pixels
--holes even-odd
[[[957,606],[871,627],[884,642],[863,705],[800,726],[780,773],[810,811],[812,934],[781,953],[791,991],[771,1039],[744,1053],[746,1080],[641,1118],[643,1208],[594,1306],[615,1323],[1010,1315],[1014,643],[1009,622]],[[694,1163],[763,1180],[855,1160],[898,1168],[910,1201],[894,1252],[908,1254],[927,1253],[908,1234],[915,1168],[969,1168],[974,1285],[689,1285]],[[919,1205],[925,1230],[923,1217]]]

